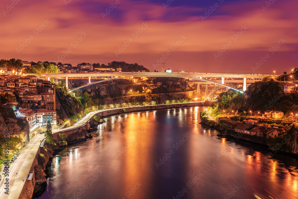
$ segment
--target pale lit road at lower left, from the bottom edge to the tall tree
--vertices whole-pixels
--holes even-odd
[[[38,134],[35,136],[26,147],[21,151],[20,155],[17,157],[16,161],[10,164],[9,168],[9,194],[5,194],[6,190],[4,189],[5,178],[2,175],[0,183],[0,198],[1,199],[15,199],[18,198],[21,194],[25,181],[24,178],[27,178],[28,173],[31,169],[31,165],[34,161],[35,155],[38,151],[40,141],[44,139],[44,134]]]

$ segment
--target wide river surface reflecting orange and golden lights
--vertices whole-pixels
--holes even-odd
[[[198,124],[204,108],[107,118],[97,137],[53,158],[40,198],[298,198],[297,159],[217,137]]]

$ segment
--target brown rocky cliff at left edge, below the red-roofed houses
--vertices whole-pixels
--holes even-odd
[[[0,110],[0,131],[8,130],[10,136],[18,136],[29,141],[29,123],[26,119],[16,118],[12,108]]]

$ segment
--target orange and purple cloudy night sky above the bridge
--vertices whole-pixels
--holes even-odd
[[[0,59],[150,71],[298,68],[297,0],[1,0]]]

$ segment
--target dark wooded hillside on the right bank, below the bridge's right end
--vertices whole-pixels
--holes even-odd
[[[250,85],[245,93],[228,91],[221,93],[217,103],[214,103],[211,109],[212,116],[238,114],[240,116],[257,116],[266,111],[282,111],[286,119],[291,113],[298,113],[298,93],[284,93],[283,82],[277,82],[272,79]],[[250,112],[252,111],[252,112]]]

